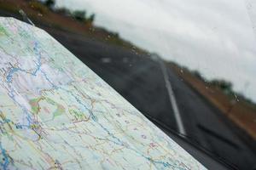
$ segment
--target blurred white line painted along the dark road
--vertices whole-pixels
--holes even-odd
[[[183,135],[186,135],[187,133],[186,133],[185,128],[183,126],[183,120],[180,116],[180,112],[179,112],[178,107],[177,107],[177,101],[175,99],[175,95],[174,95],[173,90],[172,90],[172,84],[169,81],[168,73],[167,73],[167,70],[166,70],[166,65],[160,59],[160,57],[154,56],[153,58],[157,59],[160,63],[160,68],[161,68],[161,71],[163,73],[163,76],[164,76],[164,79],[165,79],[165,82],[166,82],[166,88],[167,88],[169,99],[170,99],[172,109],[173,109],[173,112],[174,112],[174,117],[175,117],[175,120],[177,122],[177,130],[178,130],[179,133],[182,133]]]

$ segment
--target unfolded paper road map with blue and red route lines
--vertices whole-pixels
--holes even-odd
[[[205,169],[46,31],[0,18],[0,169]]]

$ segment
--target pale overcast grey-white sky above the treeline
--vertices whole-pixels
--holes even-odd
[[[57,0],[163,59],[222,78],[256,102],[253,0]]]

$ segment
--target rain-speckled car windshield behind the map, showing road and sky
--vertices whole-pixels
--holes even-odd
[[[47,31],[171,138],[256,168],[255,1],[2,0],[0,16]]]

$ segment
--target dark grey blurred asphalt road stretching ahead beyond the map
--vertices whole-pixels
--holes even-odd
[[[171,68],[165,67],[165,77],[165,71],[158,59],[78,34],[40,27],[48,31],[206,167],[221,169],[223,167],[218,161],[224,161],[239,169],[256,169],[256,150],[248,144],[250,141],[246,140],[247,137],[218,109],[177,77]],[[176,100],[182,119],[185,130],[183,139],[177,135],[180,131],[166,78],[172,86],[172,97]],[[201,150],[204,150],[203,154]],[[204,154],[205,151],[210,154]],[[207,158],[209,155],[218,161]]]

